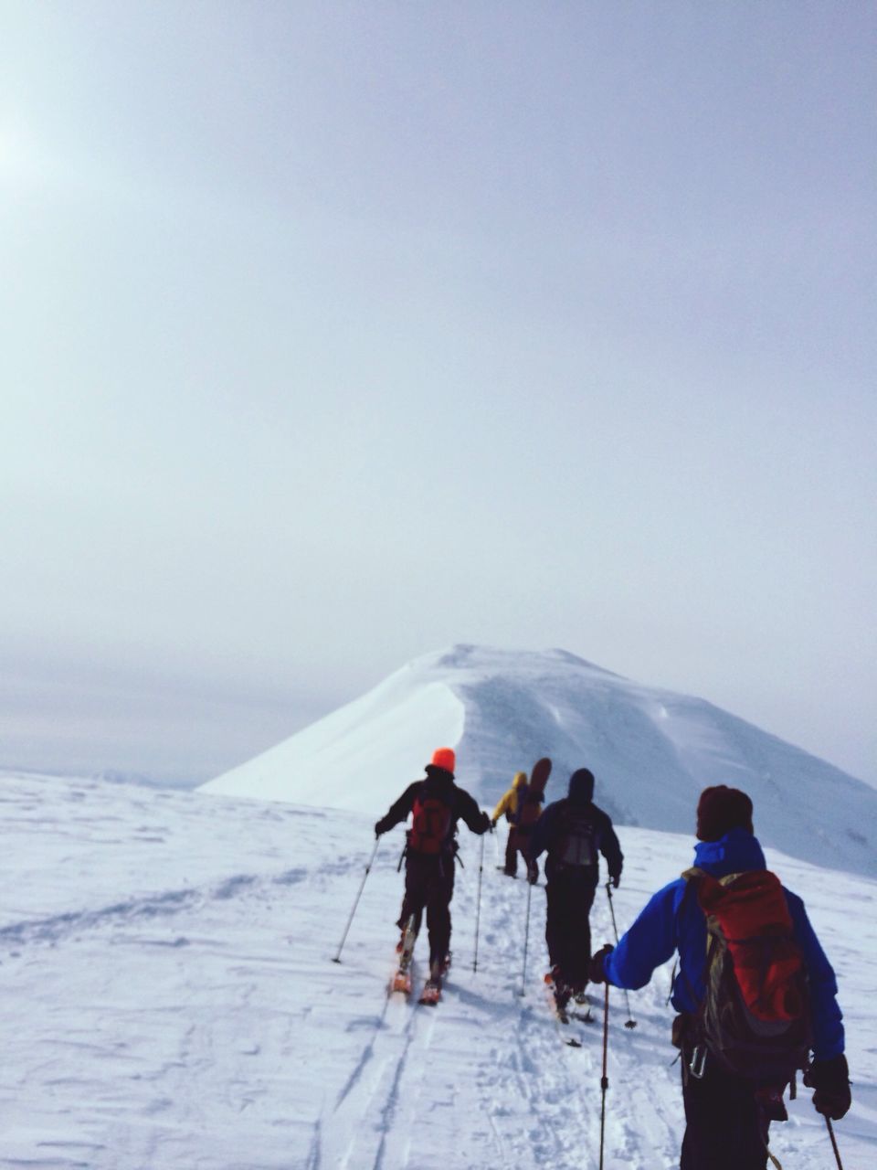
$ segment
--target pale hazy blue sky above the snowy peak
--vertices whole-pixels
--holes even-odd
[[[0,0],[0,765],[206,779],[469,641],[877,782],[876,50]]]

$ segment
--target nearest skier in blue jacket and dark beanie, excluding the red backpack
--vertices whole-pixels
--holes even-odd
[[[695,865],[716,879],[766,869],[753,835],[752,801],[725,785],[705,789],[697,808]],[[850,1106],[844,1033],[834,970],[810,925],[805,904],[785,889],[795,941],[807,973],[813,1062],[805,1083],[814,1088],[813,1103],[827,1117],[842,1117]],[[691,1023],[705,994],[706,920],[690,882],[678,878],[655,894],[616,948],[603,947],[591,961],[594,983],[636,990],[655,968],[678,951],[679,970],[671,1000],[679,1017],[675,1034],[682,1048],[685,1136],[681,1170],[764,1170],[767,1128],[755,1099],[757,1086],[728,1073],[707,1051],[703,1076],[690,1074],[693,1055]]]

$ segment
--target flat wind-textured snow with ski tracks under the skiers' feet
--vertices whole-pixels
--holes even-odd
[[[387,996],[401,827],[364,878],[372,819],[408,778],[360,772],[366,817],[0,776],[0,1166],[596,1166],[601,1026],[575,1025],[579,1049],[560,1042],[541,985],[544,890],[497,872],[499,835],[462,832],[443,1003]],[[692,839],[619,835],[623,929],[690,863]],[[772,851],[768,860],[805,897],[838,972],[855,1103],[836,1133],[844,1165],[864,1170],[877,1161],[877,882]],[[605,897],[592,923],[595,945],[612,940]],[[420,940],[421,978],[424,952]],[[607,1170],[678,1165],[669,980],[660,970],[631,993],[633,1031],[612,992]],[[809,1093],[789,1109],[774,1151],[788,1170],[826,1170],[831,1150]]]

